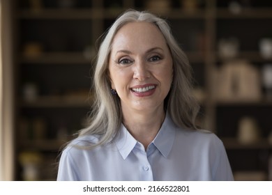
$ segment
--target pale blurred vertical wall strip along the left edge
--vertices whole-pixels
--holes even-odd
[[[11,1],[0,0],[0,180],[13,180],[13,61]]]

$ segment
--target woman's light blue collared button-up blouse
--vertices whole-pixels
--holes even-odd
[[[86,146],[94,136],[72,143]],[[121,125],[112,143],[92,150],[68,146],[61,155],[57,180],[233,180],[222,141],[205,130],[176,127],[167,116],[144,150]]]

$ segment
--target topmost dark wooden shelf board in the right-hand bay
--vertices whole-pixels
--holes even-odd
[[[271,8],[242,8],[241,13],[231,13],[227,8],[218,8],[218,19],[272,19]]]

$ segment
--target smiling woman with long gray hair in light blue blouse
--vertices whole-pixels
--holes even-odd
[[[233,180],[215,134],[197,130],[191,68],[165,22],[128,10],[107,32],[89,127],[61,155],[58,180]]]

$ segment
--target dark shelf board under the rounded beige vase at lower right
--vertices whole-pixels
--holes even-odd
[[[236,138],[222,138],[222,142],[227,150],[242,150],[242,149],[272,149],[272,144],[268,139],[261,139],[255,143],[244,144],[240,143]]]

